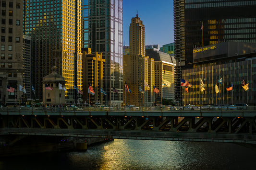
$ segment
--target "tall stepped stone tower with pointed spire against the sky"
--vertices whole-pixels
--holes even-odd
[[[154,105],[154,59],[145,56],[145,26],[138,17],[132,18],[130,24],[130,55],[123,56],[124,85],[125,81],[132,91],[125,91],[126,105]],[[149,87],[145,86],[145,82]],[[139,91],[139,89],[142,91]]]

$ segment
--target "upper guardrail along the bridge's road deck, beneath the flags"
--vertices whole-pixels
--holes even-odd
[[[134,112],[256,112],[256,106],[248,107],[1,107],[0,112],[86,112],[86,111],[134,111]]]

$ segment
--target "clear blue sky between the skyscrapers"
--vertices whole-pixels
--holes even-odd
[[[123,0],[123,45],[129,45],[129,26],[136,10],[145,25],[146,45],[173,42],[173,0]]]

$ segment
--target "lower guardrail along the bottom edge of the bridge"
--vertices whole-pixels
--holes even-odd
[[[44,136],[83,136],[83,137],[113,137],[126,139],[179,140],[179,141],[209,141],[238,142],[256,144],[256,135],[248,134],[218,134],[218,133],[182,133],[182,132],[152,132],[152,131],[122,131],[122,130],[81,130],[81,129],[39,129],[39,128],[0,128],[1,133]]]

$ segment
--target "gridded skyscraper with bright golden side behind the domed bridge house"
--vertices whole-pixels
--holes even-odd
[[[36,97],[42,99],[43,77],[50,68],[64,77],[68,93],[75,85],[82,89],[82,0],[26,0],[24,34],[32,41],[32,84]]]

